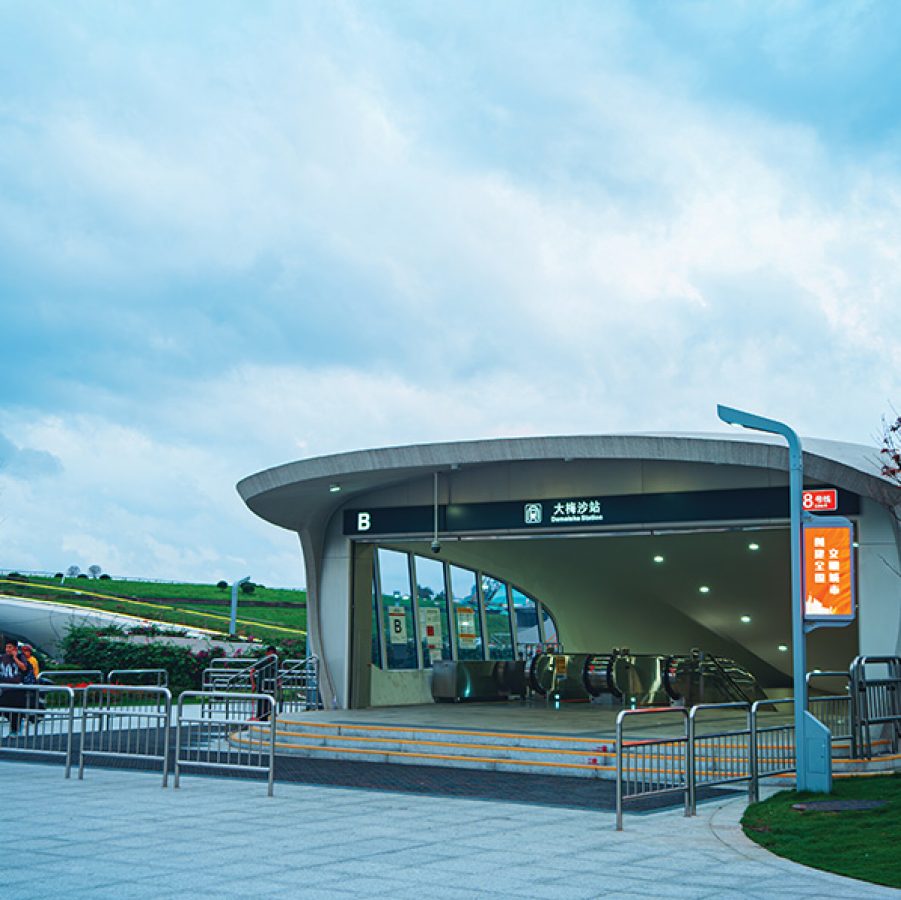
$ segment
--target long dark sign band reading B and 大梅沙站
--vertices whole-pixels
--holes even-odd
[[[856,494],[837,491],[845,515],[860,512]],[[348,536],[429,534],[432,506],[364,507],[344,511]],[[556,531],[614,525],[730,522],[788,519],[784,487],[729,491],[681,491],[669,494],[570,496],[503,503],[451,503],[438,507],[441,534],[497,531]]]

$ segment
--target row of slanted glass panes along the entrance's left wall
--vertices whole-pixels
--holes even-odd
[[[373,574],[372,662],[382,668],[515,659],[518,644],[557,640],[539,600],[485,572],[379,547]]]

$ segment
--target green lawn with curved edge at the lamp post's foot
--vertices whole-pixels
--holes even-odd
[[[799,812],[805,800],[885,800],[882,809]],[[786,859],[838,875],[901,888],[901,775],[842,778],[833,793],[781,791],[749,806],[742,827],[751,840]]]

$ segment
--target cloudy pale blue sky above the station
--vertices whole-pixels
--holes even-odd
[[[901,5],[0,6],[0,566],[302,580],[235,482],[521,434],[867,443]]]

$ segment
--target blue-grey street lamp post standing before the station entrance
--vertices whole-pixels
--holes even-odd
[[[795,708],[797,790],[832,791],[832,740],[829,729],[807,711],[807,646],[804,640],[804,596],[801,583],[801,493],[804,456],[801,439],[784,422],[720,404],[717,415],[730,425],[778,434],[788,443],[788,490],[791,515],[792,675]]]

